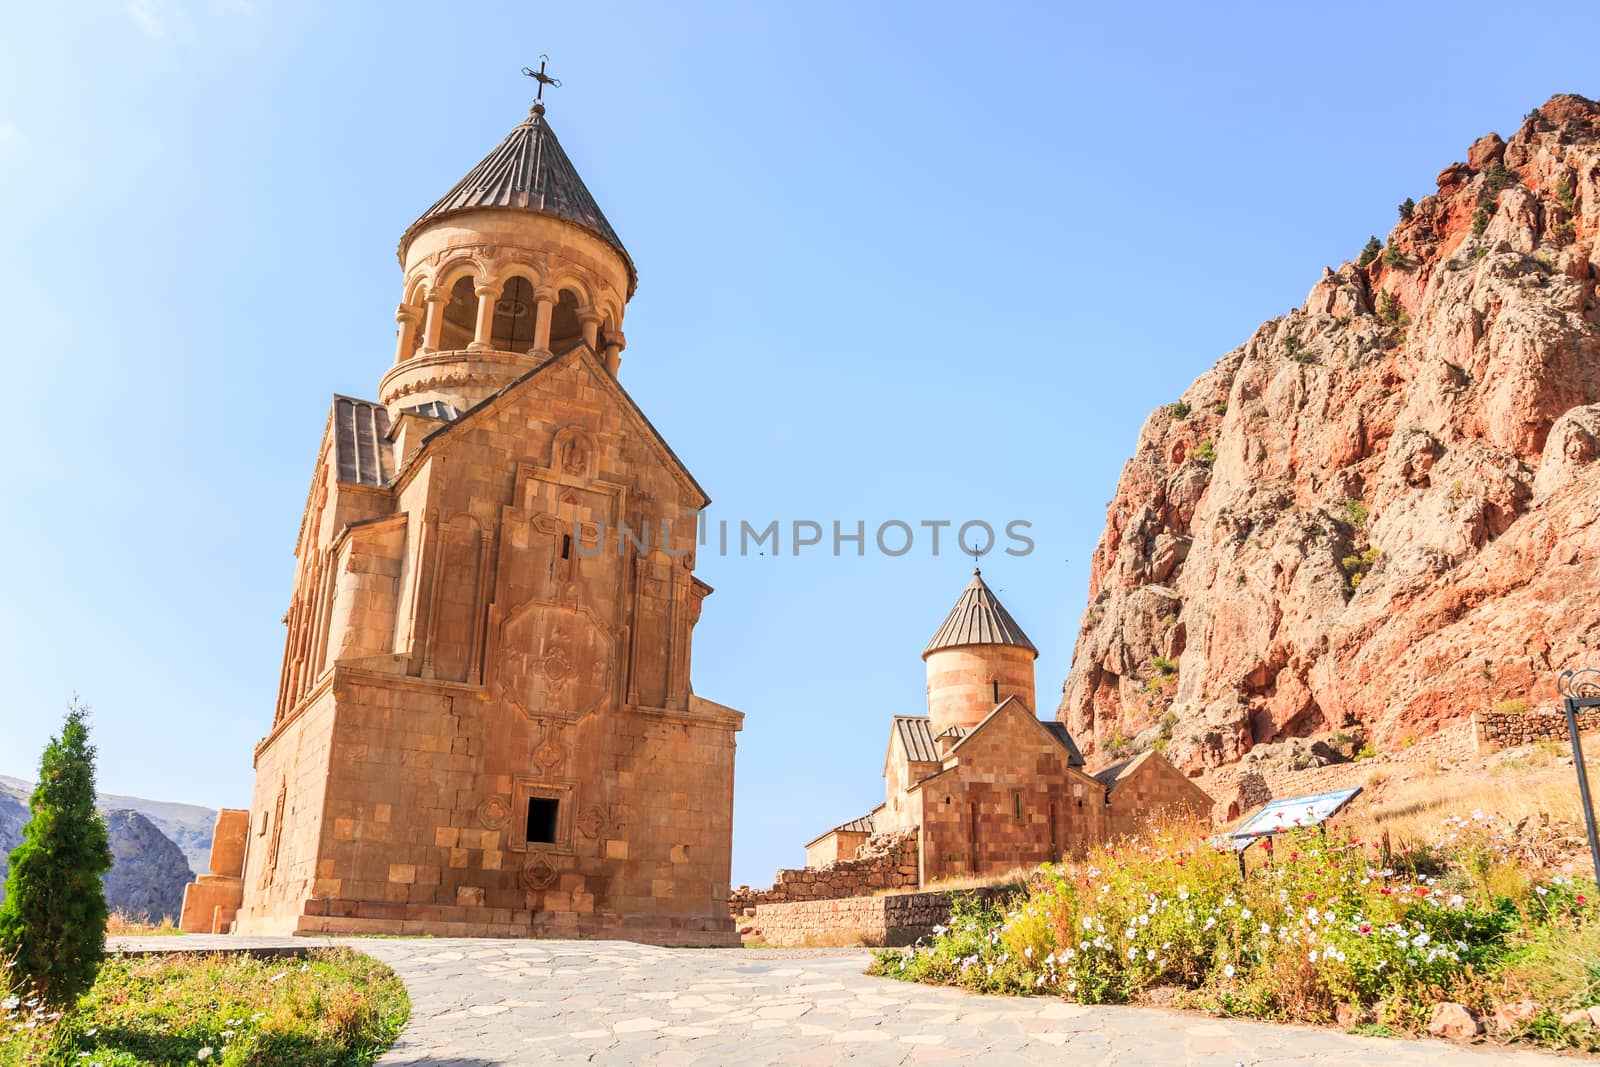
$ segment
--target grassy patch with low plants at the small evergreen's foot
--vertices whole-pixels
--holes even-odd
[[[394,971],[349,949],[304,960],[110,957],[70,1011],[54,1016],[29,1000],[13,992],[3,1001],[0,1067],[354,1067],[394,1045],[411,1013]]]

